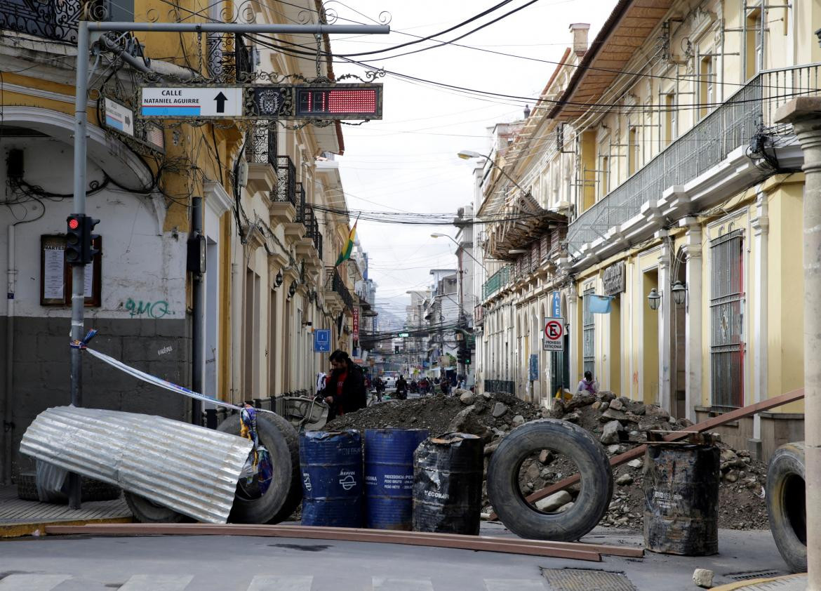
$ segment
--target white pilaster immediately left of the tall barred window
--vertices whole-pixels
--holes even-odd
[[[695,406],[704,400],[701,391],[704,342],[702,341],[701,318],[704,306],[703,285],[701,282],[701,226],[697,218],[684,218],[680,227],[687,228],[685,245],[687,268],[687,300],[685,302],[685,404],[687,419],[695,423]]]

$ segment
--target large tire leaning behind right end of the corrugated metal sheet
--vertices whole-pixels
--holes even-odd
[[[259,419],[260,416],[266,414],[257,415],[257,433],[260,444],[271,455],[273,464],[271,484],[264,495],[258,496],[259,492],[255,493],[253,490],[246,494],[245,486],[237,483],[234,505],[231,508],[231,514],[228,515],[228,521],[232,523],[267,524],[277,519],[284,519],[281,514],[288,509],[287,502],[291,494],[294,474],[297,474],[297,479],[299,479],[299,451],[297,451],[295,472],[294,462],[291,460],[291,446],[287,437],[282,434],[277,421]],[[229,416],[218,426],[218,430],[239,436],[240,415]]]

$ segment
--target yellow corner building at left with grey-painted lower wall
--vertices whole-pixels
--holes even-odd
[[[63,251],[72,213],[73,48],[85,7],[0,6],[0,260],[9,294],[0,305],[0,350],[9,360],[0,369],[0,406],[13,424],[2,441],[5,480],[30,469],[16,450],[31,420],[71,399],[71,268]],[[96,12],[103,3],[88,7],[89,18],[118,21],[285,23],[302,11],[319,19],[313,0],[246,4],[241,13],[229,0],[124,0],[108,14]],[[308,39],[279,38],[314,44]],[[333,80],[333,71],[278,53],[263,37],[152,32],[99,43],[89,57],[87,109],[87,212],[101,220],[102,241],[87,269],[86,327],[99,330],[93,346],[182,385],[200,373],[203,392],[225,401],[270,408],[279,396],[310,392],[327,365],[313,352],[314,329],[344,332],[353,307],[332,267],[350,231],[345,216],[329,213],[345,210],[329,164],[344,149],[341,127],[143,121],[134,112],[149,81],[225,84],[270,72]],[[327,37],[323,44],[330,47]],[[197,227],[201,274],[189,254]],[[84,386],[87,406],[191,419],[189,400],[97,360],[85,360]]]

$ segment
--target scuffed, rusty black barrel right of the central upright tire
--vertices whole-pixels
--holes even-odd
[[[644,547],[707,556],[718,552],[718,447],[654,444],[644,454]]]

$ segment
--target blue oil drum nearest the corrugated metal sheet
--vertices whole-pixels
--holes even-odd
[[[362,438],[359,431],[300,434],[302,525],[362,527]]]

